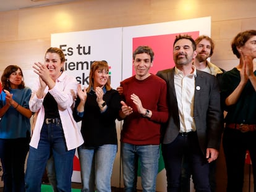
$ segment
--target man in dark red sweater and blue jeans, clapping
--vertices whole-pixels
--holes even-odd
[[[160,127],[168,120],[166,83],[149,73],[154,53],[139,46],[133,53],[135,75],[121,81],[121,158],[124,190],[136,191],[140,159],[143,191],[154,191],[160,156]]]

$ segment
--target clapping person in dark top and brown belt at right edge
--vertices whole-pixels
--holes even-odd
[[[228,173],[227,191],[242,192],[247,150],[256,186],[256,71],[253,64],[256,58],[256,30],[237,34],[232,49],[240,61],[234,69],[223,74],[221,81],[221,101],[228,112],[223,149]]]

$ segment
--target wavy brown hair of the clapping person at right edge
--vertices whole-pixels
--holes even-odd
[[[233,50],[233,53],[236,55],[236,57],[239,59],[240,58],[240,53],[237,50],[237,47],[240,48],[244,46],[244,44],[252,37],[256,36],[256,30],[247,30],[247,31],[242,31],[238,33],[232,43],[231,43],[231,48]]]

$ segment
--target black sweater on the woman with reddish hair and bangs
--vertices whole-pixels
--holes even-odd
[[[103,96],[107,109],[100,111],[96,102],[96,94],[92,90],[87,93],[83,117],[77,114],[78,98],[73,111],[74,119],[82,120],[81,133],[86,147],[97,147],[103,144],[117,144],[116,119],[121,110],[120,96],[116,90],[109,90]]]

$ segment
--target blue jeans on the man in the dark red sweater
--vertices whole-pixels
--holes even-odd
[[[136,191],[137,161],[140,159],[143,192],[156,191],[156,176],[158,173],[158,159],[160,145],[134,145],[121,143],[122,172],[124,190]]]

